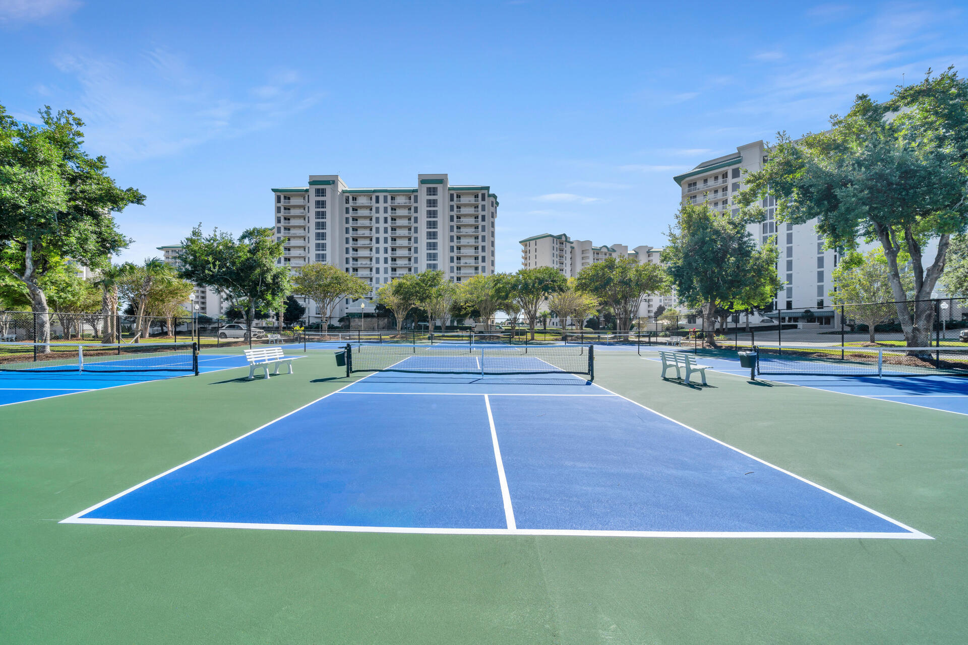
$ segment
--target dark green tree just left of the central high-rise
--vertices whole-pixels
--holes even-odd
[[[182,241],[181,277],[218,289],[245,313],[246,329],[252,330],[257,308],[271,308],[289,291],[289,270],[276,264],[283,243],[272,239],[271,228],[249,228],[238,240],[231,234],[201,232],[201,224]],[[248,334],[252,344],[252,334]]]

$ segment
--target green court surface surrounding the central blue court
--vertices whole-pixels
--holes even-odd
[[[595,384],[933,540],[58,523],[358,380],[331,352],[294,369],[0,408],[0,642],[968,641],[963,415],[720,372],[690,388],[620,352]]]

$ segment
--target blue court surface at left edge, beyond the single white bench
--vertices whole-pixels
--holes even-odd
[[[149,359],[144,359],[149,360]],[[137,358],[127,363],[136,364]],[[112,366],[118,366],[115,362]],[[247,366],[244,354],[199,354],[198,371],[210,372],[229,367]],[[23,403],[53,396],[76,395],[92,390],[106,390],[125,385],[147,383],[166,378],[193,375],[184,371],[51,371],[44,368],[24,371],[0,371],[0,406]]]

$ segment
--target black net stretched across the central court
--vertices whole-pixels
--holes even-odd
[[[558,345],[347,345],[347,375],[354,371],[438,374],[588,374],[594,347]]]

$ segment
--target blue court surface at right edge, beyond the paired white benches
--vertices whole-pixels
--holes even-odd
[[[598,348],[595,348],[597,351]],[[642,358],[658,362],[657,358]],[[749,368],[738,360],[698,356],[702,365],[715,371],[749,378]],[[968,415],[968,378],[963,376],[821,376],[821,375],[763,375],[759,380],[796,385],[803,388],[835,392],[841,395],[863,396],[884,401],[917,405],[932,410]]]

